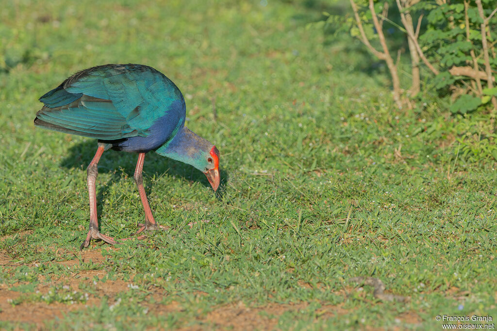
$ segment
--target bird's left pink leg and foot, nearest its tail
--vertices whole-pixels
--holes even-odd
[[[88,196],[90,201],[90,225],[88,227],[88,235],[86,236],[86,240],[81,244],[80,250],[83,250],[84,247],[88,247],[91,239],[101,239],[109,244],[115,245],[116,242],[112,237],[101,234],[98,231],[98,218],[96,214],[96,176],[98,174],[98,161],[100,160],[100,156],[104,151],[103,146],[98,146],[96,150],[95,156],[93,160],[91,160],[88,168],[86,168],[86,182],[88,184]]]

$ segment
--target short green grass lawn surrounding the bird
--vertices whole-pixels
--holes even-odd
[[[2,8],[0,254],[9,262],[0,293],[21,293],[10,306],[83,303],[44,324],[61,330],[229,328],[202,317],[239,302],[282,330],[497,318],[496,165],[463,157],[454,140],[485,120],[451,117],[436,101],[397,110],[385,68],[365,70],[374,59],[360,44],[306,29],[320,8],[267,2]],[[32,120],[39,96],[106,63],[153,66],[179,86],[187,125],[221,152],[222,192],[216,197],[192,167],[150,153],[146,190],[171,229],[91,262],[78,249],[96,141],[35,129]],[[117,238],[144,219],[136,159],[109,151],[99,163],[101,228]],[[411,300],[375,299],[348,281],[356,276]],[[113,281],[132,285],[102,295]],[[301,306],[265,312],[275,304]],[[35,328],[0,321],[16,327]]]

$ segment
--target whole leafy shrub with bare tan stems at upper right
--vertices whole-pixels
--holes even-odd
[[[399,108],[412,105],[419,98],[419,68],[425,67],[425,88],[436,88],[441,96],[450,95],[453,113],[466,114],[490,101],[497,109],[493,77],[497,67],[494,0],[349,1],[353,15],[324,13],[326,21],[316,26],[338,25],[338,32],[347,30],[385,61]],[[396,43],[393,39],[398,35],[393,30],[403,32],[406,43]],[[401,86],[398,73],[406,44],[412,67],[409,89]]]

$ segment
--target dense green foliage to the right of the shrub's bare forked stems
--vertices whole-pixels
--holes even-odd
[[[453,113],[474,111],[490,100],[497,107],[492,76],[497,67],[495,1],[437,2],[414,5],[417,12],[427,13],[426,30],[419,40],[430,62],[441,71],[441,77],[435,77],[436,88],[452,93]]]

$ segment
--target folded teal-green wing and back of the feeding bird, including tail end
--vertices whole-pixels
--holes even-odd
[[[140,65],[96,66],[76,73],[40,98],[35,125],[113,140],[147,136],[175,101],[184,99],[165,75]],[[181,117],[171,112],[173,117]],[[179,119],[171,118],[171,125]]]

